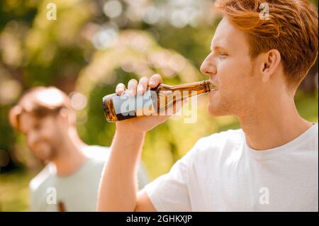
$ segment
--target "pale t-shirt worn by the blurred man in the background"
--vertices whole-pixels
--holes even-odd
[[[30,181],[30,210],[58,211],[63,203],[65,211],[96,211],[99,182],[110,149],[86,146],[83,150],[88,157],[79,170],[69,176],[57,176],[55,166],[47,164]],[[148,183],[147,172],[140,165],[138,171],[139,188]]]

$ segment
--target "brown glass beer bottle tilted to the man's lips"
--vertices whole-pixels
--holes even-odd
[[[176,86],[159,84],[156,88],[147,89],[145,94],[142,95],[129,96],[126,91],[121,96],[117,94],[106,95],[103,97],[103,109],[106,120],[109,122],[135,118],[141,115],[154,115],[155,113],[162,115],[167,108],[177,101],[217,89],[208,80]]]

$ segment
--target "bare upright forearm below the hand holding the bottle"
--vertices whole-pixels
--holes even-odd
[[[103,169],[98,211],[134,211],[138,194],[138,164],[145,132],[119,132]]]

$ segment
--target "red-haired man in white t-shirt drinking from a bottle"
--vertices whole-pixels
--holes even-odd
[[[301,118],[293,101],[318,55],[318,13],[305,0],[216,6],[223,19],[201,66],[219,88],[208,111],[237,116],[241,129],[201,138],[138,193],[130,172],[145,132],[169,116],[119,121],[98,210],[318,211],[318,124]],[[129,81],[128,90],[134,96],[159,83],[156,74]],[[117,93],[124,90],[118,84]],[[121,180],[119,169],[128,172]]]

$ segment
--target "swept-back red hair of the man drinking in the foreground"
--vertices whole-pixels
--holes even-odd
[[[260,17],[261,4],[269,9],[268,19]],[[216,9],[245,32],[253,59],[262,52],[278,50],[287,85],[298,87],[318,56],[318,12],[308,1],[217,1]]]

